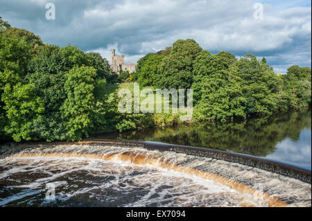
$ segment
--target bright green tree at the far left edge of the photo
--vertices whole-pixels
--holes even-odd
[[[3,24],[2,20],[1,23]],[[7,24],[4,25],[8,26]],[[29,139],[31,134],[29,125],[25,125],[24,132],[19,126],[23,125],[22,122],[26,120],[23,117],[28,116],[26,114],[29,112],[28,107],[26,107],[27,103],[33,105],[32,100],[37,99],[30,96],[33,94],[32,87],[29,85],[24,87],[23,83],[26,76],[26,64],[33,56],[31,48],[31,44],[25,39],[19,39],[17,36],[8,37],[3,34],[3,30],[0,30],[0,134],[13,136],[17,141],[21,137]],[[16,103],[16,100],[12,99],[19,99],[20,103]],[[15,116],[15,112],[19,108],[23,113]],[[32,119],[30,120],[32,121]]]

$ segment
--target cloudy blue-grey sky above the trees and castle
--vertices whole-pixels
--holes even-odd
[[[46,19],[46,3],[54,3],[55,19]],[[109,61],[112,48],[137,62],[191,38],[211,53],[264,56],[276,73],[311,68],[308,0],[1,0],[0,16],[44,43],[70,43]]]

